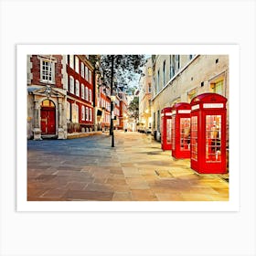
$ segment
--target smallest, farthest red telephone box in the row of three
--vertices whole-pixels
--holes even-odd
[[[161,111],[161,146],[163,150],[172,149],[171,127],[172,108],[167,107]]]

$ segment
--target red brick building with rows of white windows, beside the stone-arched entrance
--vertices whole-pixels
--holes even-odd
[[[68,55],[67,126],[68,132],[88,132],[94,129],[93,67],[87,55]]]

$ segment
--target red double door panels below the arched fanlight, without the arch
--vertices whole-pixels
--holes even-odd
[[[41,108],[41,130],[42,134],[55,134],[55,108]]]

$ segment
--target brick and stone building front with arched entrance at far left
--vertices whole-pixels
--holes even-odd
[[[27,56],[27,138],[67,138],[67,75],[61,55]]]

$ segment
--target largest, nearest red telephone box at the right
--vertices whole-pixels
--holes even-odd
[[[191,168],[202,174],[224,174],[227,99],[203,93],[191,101]]]

